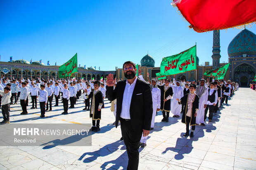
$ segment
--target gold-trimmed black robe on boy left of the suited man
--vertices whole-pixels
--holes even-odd
[[[91,100],[91,108],[90,108],[90,118],[92,120],[101,120],[101,109],[98,111],[99,105],[103,103],[102,92],[99,90],[94,94],[94,90],[90,92],[88,95],[88,99],[92,98]]]

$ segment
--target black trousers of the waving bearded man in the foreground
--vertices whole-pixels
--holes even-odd
[[[128,154],[127,170],[137,170],[139,165],[139,147],[142,129],[133,129],[131,121],[120,118],[121,132]]]

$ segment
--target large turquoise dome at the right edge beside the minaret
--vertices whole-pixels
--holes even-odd
[[[228,56],[256,55],[256,35],[244,28],[228,45]]]

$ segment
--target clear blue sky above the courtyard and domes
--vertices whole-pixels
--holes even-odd
[[[212,63],[213,33],[196,33],[170,0],[0,0],[1,61],[25,59],[62,65],[78,53],[78,64],[101,70],[161,58],[197,42],[199,64]],[[256,33],[256,26],[248,28]],[[241,30],[220,31],[220,62]]]

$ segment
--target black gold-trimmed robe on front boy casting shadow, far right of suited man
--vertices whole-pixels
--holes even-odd
[[[181,99],[180,102],[178,102],[179,104],[184,104],[185,108],[183,110],[183,114],[182,114],[182,119],[181,122],[187,124],[188,122],[186,122],[186,114],[187,114],[187,102],[188,102],[188,94],[184,95]],[[194,116],[196,109],[199,108],[199,98],[197,95],[195,95],[194,97],[194,101],[192,102],[192,114],[191,114],[191,118],[190,118],[190,126],[196,125],[196,117]]]

